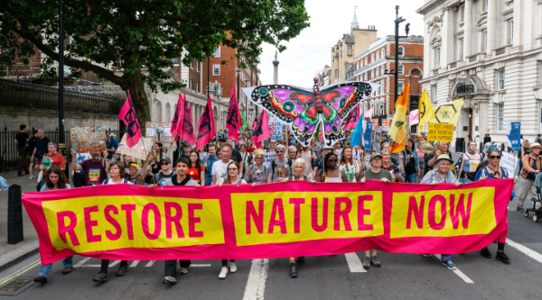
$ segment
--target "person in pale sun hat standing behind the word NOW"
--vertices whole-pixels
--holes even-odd
[[[438,186],[441,183],[452,183],[455,186],[461,185],[459,181],[453,176],[452,172],[453,160],[447,154],[441,154],[437,157],[433,169],[420,181],[420,184],[430,184]],[[431,257],[431,254],[424,254],[425,257]],[[452,254],[441,254],[441,260],[444,267],[448,269],[456,269],[455,264],[452,262]]]

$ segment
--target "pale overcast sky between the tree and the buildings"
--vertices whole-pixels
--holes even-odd
[[[424,35],[424,20],[416,9],[424,0],[305,0],[311,26],[289,42],[287,49],[278,53],[278,83],[311,88],[314,73],[331,65],[332,46],[343,33],[350,32],[354,6],[360,28],[376,26],[378,37],[395,34],[395,6],[399,5],[399,16],[406,19],[400,25],[400,34],[405,34],[405,24],[410,23],[409,35]],[[340,4],[340,5],[339,5]],[[355,53],[357,54],[357,53]],[[261,56],[262,84],[273,83],[273,59],[275,47],[266,44]]]

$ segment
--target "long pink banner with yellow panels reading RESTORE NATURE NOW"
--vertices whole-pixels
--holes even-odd
[[[88,186],[27,193],[42,263],[456,254],[506,238],[512,179],[451,184]]]

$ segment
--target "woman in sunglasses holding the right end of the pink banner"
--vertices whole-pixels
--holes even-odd
[[[488,150],[488,165],[485,168],[481,168],[474,177],[474,181],[482,180],[485,181],[486,179],[501,179],[501,178],[508,178],[508,173],[506,169],[500,167],[500,157],[502,156],[502,153],[500,152],[499,148],[497,148],[497,145],[491,144],[490,150]],[[516,184],[516,178],[514,178],[514,185]],[[512,195],[513,196],[513,195]],[[508,210],[507,213],[508,214]],[[505,216],[505,220],[507,220],[507,217]],[[497,237],[497,255],[495,256],[495,259],[502,261],[505,264],[510,263],[509,257],[504,254],[504,243],[506,242],[506,233],[502,232]],[[484,249],[480,250],[481,256],[483,256],[486,259],[491,259],[491,252],[488,249],[488,247],[485,247]]]

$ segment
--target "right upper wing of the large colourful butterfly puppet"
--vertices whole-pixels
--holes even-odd
[[[333,86],[325,86],[322,89],[322,101],[332,107],[339,114],[340,120],[348,118],[350,111],[361,100],[372,93],[372,86],[366,82],[354,81],[341,83]]]

